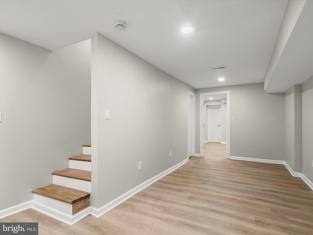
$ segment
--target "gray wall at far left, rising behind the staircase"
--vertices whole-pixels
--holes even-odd
[[[0,210],[90,141],[90,40],[51,52],[0,34]]]

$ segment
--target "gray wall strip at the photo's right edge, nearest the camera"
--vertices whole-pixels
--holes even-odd
[[[313,182],[313,77],[302,84],[302,173]]]

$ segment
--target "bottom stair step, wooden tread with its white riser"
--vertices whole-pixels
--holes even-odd
[[[57,210],[60,210],[61,204],[57,205],[57,202],[49,202],[48,198],[66,203],[67,205],[65,206],[66,208],[64,209],[64,212],[70,214],[75,214],[90,206],[90,193],[73,188],[52,184],[33,189],[32,192],[34,193],[34,200],[37,200],[43,204],[48,204],[49,207],[56,205],[58,207]],[[43,197],[35,196],[35,194],[41,195]],[[63,210],[61,209],[61,211]]]

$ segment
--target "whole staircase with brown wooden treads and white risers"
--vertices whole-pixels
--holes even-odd
[[[69,157],[69,168],[52,172],[52,184],[33,189],[34,209],[67,224],[89,214],[91,192],[91,144],[83,154]]]

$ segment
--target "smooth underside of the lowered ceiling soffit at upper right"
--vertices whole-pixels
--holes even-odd
[[[300,1],[295,3],[300,4]],[[302,3],[303,4],[303,3]],[[285,92],[313,76],[313,1],[305,5],[271,74],[268,93]]]

